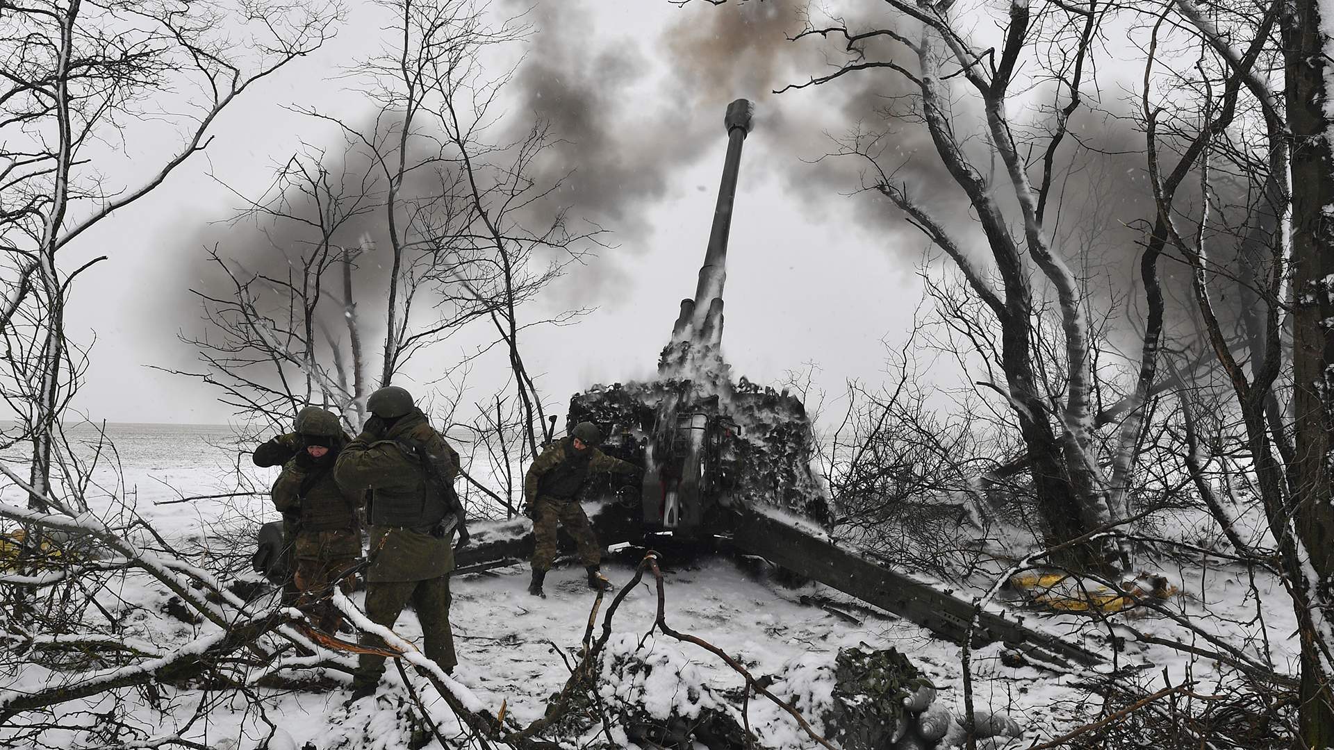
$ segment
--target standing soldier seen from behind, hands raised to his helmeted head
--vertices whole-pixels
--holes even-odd
[[[422,621],[427,658],[444,671],[454,671],[454,633],[450,630],[450,571],[454,550],[450,538],[459,531],[467,543],[463,507],[454,492],[459,454],[427,422],[412,395],[398,386],[371,394],[366,430],[343,448],[334,476],[344,491],[370,490],[367,518],[371,547],[367,552],[366,615],[394,627],[403,607],[412,607]],[[383,646],[378,635],[362,643]],[[352,679],[352,699],[375,693],[384,673],[384,657],[362,654]]]

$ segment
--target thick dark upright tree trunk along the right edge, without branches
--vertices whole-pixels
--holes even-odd
[[[1334,746],[1334,694],[1329,649],[1329,605],[1334,598],[1334,498],[1330,487],[1330,431],[1334,428],[1334,157],[1325,116],[1325,56],[1317,0],[1294,0],[1282,16],[1286,56],[1286,112],[1293,137],[1293,411],[1295,462],[1293,504],[1297,534],[1310,558],[1305,582],[1314,622],[1302,629],[1301,731],[1307,747]],[[1326,614],[1321,614],[1326,613]],[[1299,613],[1301,614],[1301,613]]]

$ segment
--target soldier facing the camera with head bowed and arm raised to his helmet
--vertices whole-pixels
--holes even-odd
[[[360,496],[344,494],[334,480],[334,463],[348,440],[336,415],[308,406],[292,432],[265,442],[252,456],[256,466],[283,466],[271,496],[283,514],[283,554],[295,573],[283,586],[284,601],[308,607],[315,626],[327,631],[342,622],[327,602],[329,589],[362,556]],[[351,593],[354,577],[338,583]]]

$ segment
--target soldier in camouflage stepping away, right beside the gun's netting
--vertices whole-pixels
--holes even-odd
[[[528,467],[523,479],[524,512],[532,519],[536,547],[532,551],[532,583],[528,593],[543,597],[542,583],[556,559],[556,523],[579,544],[579,556],[588,570],[588,587],[606,590],[611,583],[602,575],[602,544],[588,524],[588,516],[579,504],[578,494],[594,471],[642,474],[638,466],[612,458],[598,450],[602,431],[591,422],[580,422],[570,436],[551,443]]]

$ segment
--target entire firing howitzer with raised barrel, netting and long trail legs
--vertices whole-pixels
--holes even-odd
[[[592,422],[608,439],[602,448],[646,467],[642,486],[600,478],[584,487],[600,503],[590,520],[604,544],[643,542],[670,532],[722,539],[736,551],[770,560],[962,643],[1005,642],[1037,662],[1102,663],[1098,654],[1026,627],[1009,614],[976,611],[827,535],[828,498],[810,468],[814,431],[800,399],[786,391],[731,379],[720,352],[727,239],[751,129],[751,104],[732,101],[724,119],[728,147],[704,264],[692,299],[682,300],[670,343],[647,383],[595,386],[570,400],[568,424]],[[778,511],[778,512],[775,512]],[[791,516],[798,516],[792,519]],[[563,546],[570,544],[563,539]],[[480,524],[456,552],[460,573],[512,565],[532,554],[526,519]],[[971,626],[970,626],[971,623]]]

